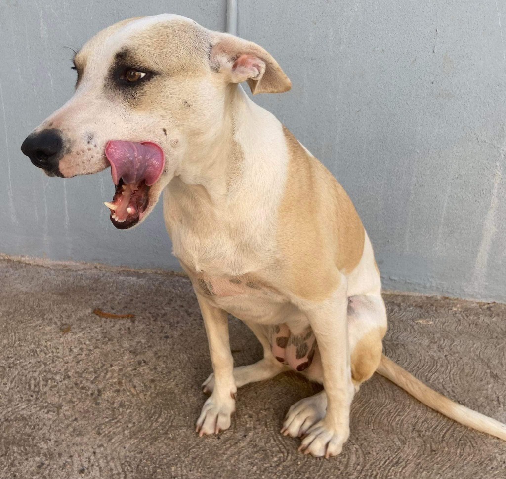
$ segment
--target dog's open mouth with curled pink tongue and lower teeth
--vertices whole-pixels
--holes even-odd
[[[116,191],[109,208],[112,224],[118,229],[135,226],[149,206],[149,190],[160,177],[162,149],[150,141],[111,140],[105,147]]]

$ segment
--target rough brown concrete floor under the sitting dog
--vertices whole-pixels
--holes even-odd
[[[385,294],[387,354],[506,422],[506,305]],[[101,318],[95,308],[134,314]],[[261,347],[231,321],[236,364]],[[288,407],[319,390],[294,373],[248,385],[231,429],[198,438],[210,371],[188,279],[0,261],[0,477],[506,477],[506,443],[456,424],[375,375],[341,456],[297,452]]]

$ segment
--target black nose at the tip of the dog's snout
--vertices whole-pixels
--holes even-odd
[[[60,174],[58,163],[63,151],[63,139],[56,129],[43,130],[26,137],[21,151],[38,168]]]

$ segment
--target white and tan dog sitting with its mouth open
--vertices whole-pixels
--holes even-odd
[[[350,405],[376,371],[419,401],[506,440],[506,426],[429,389],[382,355],[387,314],[373,249],[343,187],[253,94],[291,83],[261,46],[176,15],[116,23],[74,57],[73,97],[23,142],[48,175],[111,168],[105,205],[140,224],[163,191],[174,255],[192,281],[213,373],[200,436],[230,426],[237,388],[296,370],[323,385],[287,412],[299,450],[338,455]],[[228,314],[264,348],[233,366]]]

